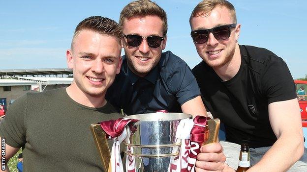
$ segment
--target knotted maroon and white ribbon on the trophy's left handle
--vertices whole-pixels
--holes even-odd
[[[100,122],[101,128],[105,131],[107,139],[113,139],[114,143],[111,150],[111,166],[109,172],[124,172],[123,162],[121,159],[120,144],[123,140],[128,140],[130,135],[136,131],[135,122],[139,120],[119,118],[117,120],[110,120]],[[127,151],[131,149],[127,147]],[[126,169],[127,172],[135,172],[135,163],[133,157],[126,157]],[[111,171],[110,171],[111,168]]]

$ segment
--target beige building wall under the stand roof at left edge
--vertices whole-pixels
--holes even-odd
[[[11,91],[3,91],[3,86],[0,86],[0,98],[6,98],[7,107],[11,99],[16,99],[28,92],[31,92],[31,85],[30,90],[24,90],[24,86],[11,86]]]

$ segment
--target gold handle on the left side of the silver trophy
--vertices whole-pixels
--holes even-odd
[[[98,149],[104,172],[109,171],[111,151],[106,138],[106,133],[101,128],[100,124],[91,124],[91,131],[94,142]]]

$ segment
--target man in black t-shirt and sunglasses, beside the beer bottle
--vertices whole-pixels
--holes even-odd
[[[224,170],[237,169],[240,144],[248,143],[250,171],[306,171],[300,111],[285,62],[267,49],[238,44],[241,25],[226,0],[200,2],[190,26],[203,59],[192,71],[206,108],[225,125]]]

